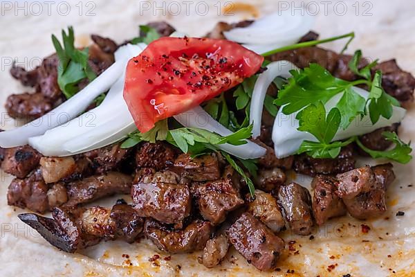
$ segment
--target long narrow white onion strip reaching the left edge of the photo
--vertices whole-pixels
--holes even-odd
[[[33,120],[17,129],[0,133],[0,146],[12,148],[28,143],[31,136],[44,134],[48,129],[67,123],[78,116],[101,93],[107,91],[111,85],[120,78],[128,60],[135,55],[132,49],[135,46],[126,45],[116,51],[118,61],[112,64],[106,71],[89,83],[75,96],[63,102],[61,105],[48,112],[41,118]]]

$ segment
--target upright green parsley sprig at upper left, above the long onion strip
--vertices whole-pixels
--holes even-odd
[[[57,84],[66,98],[71,98],[78,91],[77,84],[88,78],[96,78],[95,72],[88,64],[88,47],[82,50],[75,48],[75,35],[73,28],[68,27],[68,33],[62,30],[62,44],[55,35],[52,35],[53,46],[59,58],[57,66]]]

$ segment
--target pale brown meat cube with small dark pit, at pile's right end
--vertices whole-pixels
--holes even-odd
[[[360,193],[369,193],[376,186],[376,177],[369,166],[356,168],[337,175],[336,194],[342,199],[351,199]]]

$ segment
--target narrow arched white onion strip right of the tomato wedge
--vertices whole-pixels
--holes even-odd
[[[261,135],[262,111],[264,109],[264,100],[268,87],[275,78],[279,76],[288,78],[291,76],[291,70],[298,69],[297,66],[286,60],[271,62],[266,68],[267,70],[259,75],[257,82],[255,82],[254,90],[252,91],[249,123],[253,124],[253,138]]]

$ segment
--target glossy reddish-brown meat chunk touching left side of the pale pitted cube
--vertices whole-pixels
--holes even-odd
[[[311,187],[313,193],[313,213],[318,225],[324,224],[331,217],[347,213],[342,199],[335,194],[339,181],[327,175],[314,177]]]

